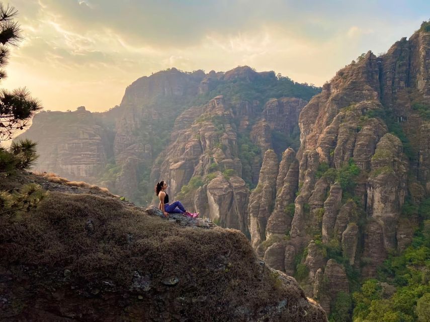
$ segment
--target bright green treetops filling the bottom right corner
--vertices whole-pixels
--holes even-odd
[[[427,321],[429,282],[430,220],[425,220],[402,254],[389,255],[378,270],[378,279],[366,281],[360,291],[353,294],[354,319],[363,322]]]

